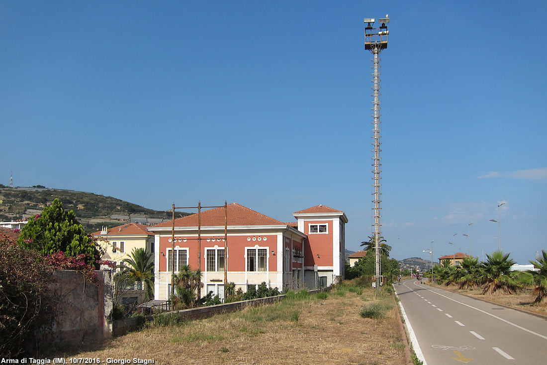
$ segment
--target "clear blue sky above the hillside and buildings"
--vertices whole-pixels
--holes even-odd
[[[397,259],[547,249],[542,1],[0,2],[0,183],[147,208],[224,201],[371,219],[381,53],[382,235]],[[469,223],[474,222],[469,226]],[[453,236],[456,233],[456,236]],[[454,245],[449,242],[455,243]]]

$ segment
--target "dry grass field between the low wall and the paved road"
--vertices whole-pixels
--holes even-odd
[[[150,324],[130,333],[48,357],[154,359],[154,364],[405,364],[405,345],[393,296],[379,301],[381,318],[359,315],[376,303],[371,289],[328,293],[217,315]]]

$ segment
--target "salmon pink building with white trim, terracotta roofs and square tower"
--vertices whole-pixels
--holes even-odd
[[[191,270],[200,267],[202,296],[213,292],[224,298],[225,270],[236,290],[246,291],[262,282],[280,290],[328,286],[344,275],[347,217],[324,206],[300,210],[294,217],[296,222],[283,223],[240,204],[228,204],[227,254],[224,207],[202,211],[200,217],[175,219],[174,250],[172,221],[149,227],[155,234],[155,299],[170,297],[172,273],[182,265],[190,265]]]

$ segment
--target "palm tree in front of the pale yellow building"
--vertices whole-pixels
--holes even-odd
[[[143,283],[146,300],[154,298],[154,260],[144,248],[133,248],[129,258],[121,260],[118,278],[131,283]]]

